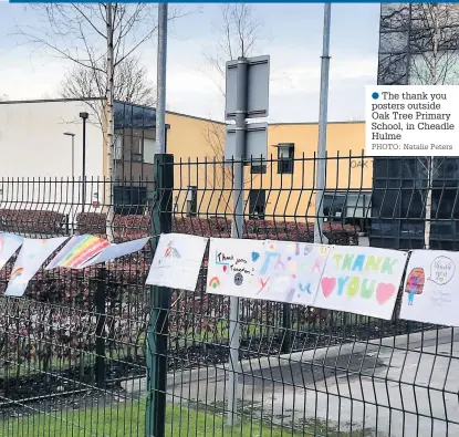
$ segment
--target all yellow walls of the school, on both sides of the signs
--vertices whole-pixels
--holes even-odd
[[[202,118],[167,113],[168,153],[175,157],[175,193],[178,212],[186,212],[188,186],[198,187],[200,215],[231,212],[231,170],[221,164],[225,148],[225,125]],[[250,189],[267,191],[267,215],[313,216],[314,152],[317,148],[317,124],[275,124],[269,126],[267,174],[244,175],[246,200]],[[293,175],[278,174],[279,143],[293,143]],[[365,146],[365,124],[330,123],[327,127],[326,187],[328,190],[371,190],[373,164],[362,158]],[[304,154],[305,160],[302,159]],[[341,158],[337,158],[337,157]],[[178,165],[180,162],[182,165]],[[206,164],[207,159],[207,164]],[[213,160],[218,164],[213,165]],[[199,164],[196,164],[199,162]],[[189,164],[188,164],[189,163]],[[364,165],[363,165],[364,164]],[[249,206],[246,206],[248,212]],[[312,218],[312,217],[311,217]]]

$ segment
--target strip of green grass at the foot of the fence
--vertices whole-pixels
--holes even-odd
[[[111,404],[83,410],[62,410],[36,414],[0,422],[2,437],[145,437],[145,400]],[[353,431],[352,436],[371,437],[372,431]],[[211,412],[188,409],[168,405],[166,410],[166,436],[168,437],[351,437],[316,422],[302,431],[259,420],[244,419],[233,428],[226,418]]]

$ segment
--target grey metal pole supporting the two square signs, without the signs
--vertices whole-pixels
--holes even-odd
[[[243,227],[243,158],[246,155],[246,112],[247,112],[247,70],[248,62],[244,58],[238,59],[238,85],[236,94],[236,152],[233,156],[233,220],[231,238],[242,237]],[[228,425],[233,426],[238,422],[238,376],[239,376],[239,299],[230,298],[230,372],[228,375]]]

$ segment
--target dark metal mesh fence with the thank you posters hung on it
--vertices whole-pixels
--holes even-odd
[[[312,241],[316,164],[247,163],[242,237]],[[384,186],[376,165],[393,164],[326,158],[330,243],[408,249],[385,223],[459,228],[459,202],[445,200],[455,176]],[[84,189],[69,179],[1,181],[0,231],[105,236],[112,207],[116,241],[153,243],[83,271],[42,270],[23,299],[0,296],[0,436],[459,435],[453,329],[399,320],[397,309],[382,321],[244,299],[238,420],[227,424],[229,299],[205,293],[206,259],[195,292],[144,284],[160,232],[230,236],[233,165],[158,156],[154,181],[88,180]],[[429,197],[437,200],[426,211]]]

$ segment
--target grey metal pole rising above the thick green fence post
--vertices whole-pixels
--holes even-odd
[[[166,153],[167,3],[158,4],[156,153]]]

